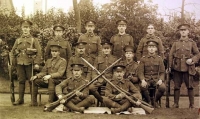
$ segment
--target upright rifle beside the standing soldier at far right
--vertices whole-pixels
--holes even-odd
[[[167,70],[166,70],[166,108],[169,108],[169,95],[170,95],[170,79],[169,79],[169,49],[167,50]]]

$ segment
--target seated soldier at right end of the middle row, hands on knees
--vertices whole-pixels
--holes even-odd
[[[147,103],[150,103],[149,88],[155,88],[155,104],[156,108],[159,108],[158,101],[165,92],[165,66],[163,59],[157,55],[156,51],[158,43],[155,41],[147,41],[148,55],[143,56],[140,60],[138,67],[138,77],[141,80],[141,93]]]

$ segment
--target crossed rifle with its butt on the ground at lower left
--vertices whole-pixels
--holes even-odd
[[[57,101],[55,101],[53,103],[46,104],[44,106],[44,111],[51,112],[55,107],[57,107],[60,104],[60,101],[62,99],[65,99],[65,102],[66,102],[66,101],[70,100],[71,98],[73,98],[76,95],[76,91],[82,91],[82,90],[84,90],[86,87],[88,87],[89,85],[91,85],[94,81],[96,81],[101,75],[103,75],[108,69],[110,69],[112,66],[114,66],[120,60],[121,60],[121,58],[118,59],[118,60],[116,60],[113,64],[111,64],[109,67],[107,67],[102,73],[100,73],[98,76],[96,76],[94,79],[92,79],[87,84],[84,84],[84,85],[78,87],[76,90],[73,90],[72,92],[68,93],[67,95],[64,95],[62,98],[58,99]]]

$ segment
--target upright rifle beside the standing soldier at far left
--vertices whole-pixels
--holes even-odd
[[[9,73],[9,80],[10,80],[10,100],[12,103],[15,102],[15,86],[14,86],[14,80],[12,78],[12,58],[11,53],[8,54],[8,73]]]

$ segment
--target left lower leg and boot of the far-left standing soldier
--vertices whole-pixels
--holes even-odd
[[[25,84],[19,84],[19,99],[15,101],[13,105],[24,104],[24,91],[25,91]]]

